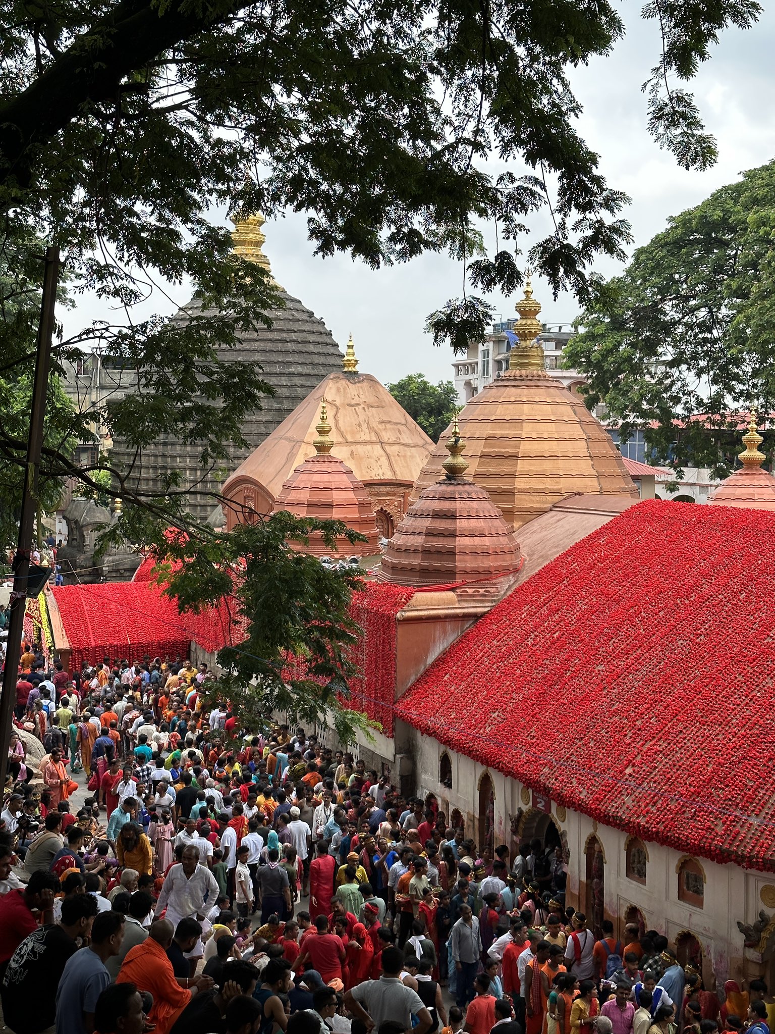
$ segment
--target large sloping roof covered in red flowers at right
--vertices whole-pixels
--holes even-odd
[[[396,705],[606,825],[775,871],[775,514],[649,500],[464,633]]]

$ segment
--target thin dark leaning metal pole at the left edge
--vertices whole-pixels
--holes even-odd
[[[57,280],[59,278],[59,248],[45,249],[45,270],[43,273],[43,299],[40,307],[40,323],[37,332],[37,355],[35,358],[35,381],[32,388],[32,410],[30,433],[27,439],[27,465],[24,474],[22,515],[19,521],[19,542],[13,557],[13,589],[10,595],[10,619],[3,670],[3,688],[0,694],[0,792],[5,788],[8,776],[8,743],[10,742],[11,718],[17,702],[17,680],[19,659],[22,649],[24,614],[27,604],[27,583],[30,574],[30,548],[35,514],[38,507],[38,477],[40,454],[43,448],[43,415],[45,413],[45,391],[49,386],[51,346],[54,335],[54,306],[57,301]]]

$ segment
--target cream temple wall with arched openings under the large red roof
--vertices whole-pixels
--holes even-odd
[[[475,710],[471,719],[475,724]],[[444,753],[452,765],[450,787],[440,782]],[[591,864],[588,854],[593,854],[596,838],[603,858],[602,915],[614,921],[619,934],[623,933],[627,910],[637,908],[645,927],[663,933],[671,944],[686,942],[686,935],[696,938],[702,948],[706,987],[715,984],[720,991],[727,978],[753,976],[764,976],[770,985],[775,985],[775,959],[768,959],[769,950],[761,954],[744,948],[743,935],[737,926],[738,920],[753,923],[763,908],[768,918],[772,916],[775,875],[696,858],[705,877],[705,893],[702,908],[689,905],[678,896],[678,869],[687,857],[680,851],[647,842],[644,884],[628,878],[626,873],[627,833],[542,798],[517,780],[447,751],[438,740],[422,735],[403,722],[397,723],[394,758],[411,762],[414,792],[436,794],[447,820],[455,810],[460,812],[466,833],[477,845],[484,841],[486,820],[479,808],[483,784],[487,790],[488,779],[494,797],[495,843],[508,844],[513,856],[520,842],[545,834],[549,824],[553,824],[566,850],[567,904],[588,913],[588,919],[595,892],[592,879],[588,880]]]

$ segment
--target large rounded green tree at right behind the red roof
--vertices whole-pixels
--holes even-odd
[[[645,432],[660,462],[725,477],[737,414],[775,407],[775,162],[670,220],[603,284],[565,348],[622,438]],[[734,433],[733,433],[734,431]]]

